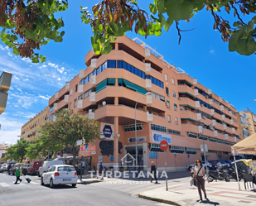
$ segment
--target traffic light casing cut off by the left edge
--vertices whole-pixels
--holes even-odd
[[[0,114],[2,114],[7,106],[7,91],[10,89],[12,81],[12,73],[2,72],[0,76]]]

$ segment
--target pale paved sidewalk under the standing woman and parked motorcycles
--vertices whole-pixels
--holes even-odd
[[[172,205],[224,205],[224,206],[253,206],[256,205],[256,192],[249,187],[248,190],[244,189],[244,181],[240,182],[240,189],[238,183],[234,180],[230,182],[205,182],[206,194],[208,201],[199,203],[199,194],[195,186],[190,186],[189,178],[182,178],[180,184],[168,181],[168,191],[166,184],[162,182],[160,189],[152,189],[138,194],[140,198],[151,199],[157,202]],[[181,180],[181,179],[176,179]],[[204,196],[204,195],[203,195]]]

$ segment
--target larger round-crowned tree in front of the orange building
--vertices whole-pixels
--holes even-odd
[[[63,109],[56,113],[56,121],[46,122],[41,128],[39,141],[41,146],[50,146],[53,151],[65,148],[73,155],[73,165],[78,154],[77,141],[85,139],[90,143],[100,137],[99,124],[88,117],[83,117],[73,110]]]

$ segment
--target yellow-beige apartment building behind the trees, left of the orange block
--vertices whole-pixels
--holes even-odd
[[[36,135],[40,135],[38,129],[47,121],[48,107],[37,113],[35,117],[32,117],[26,124],[22,126],[21,140],[32,141],[36,139]]]

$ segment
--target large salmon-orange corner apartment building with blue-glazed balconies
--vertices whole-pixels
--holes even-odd
[[[100,139],[91,149],[80,150],[80,156],[94,166],[99,160],[106,166],[133,164],[136,127],[138,164],[145,168],[152,160],[158,170],[164,168],[163,139],[169,143],[167,170],[183,170],[204,159],[203,140],[208,160],[229,160],[231,146],[239,141],[238,117],[229,102],[138,38],[118,37],[112,45],[108,55],[90,50],[87,68],[49,100],[49,119],[62,108],[72,108],[99,121]]]

